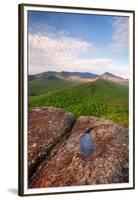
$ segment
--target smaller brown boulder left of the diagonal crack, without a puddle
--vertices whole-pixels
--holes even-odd
[[[29,177],[53,147],[72,127],[75,118],[63,109],[45,107],[29,110],[28,114]]]

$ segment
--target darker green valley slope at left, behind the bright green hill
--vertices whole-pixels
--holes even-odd
[[[77,85],[80,82],[78,81],[68,81],[68,80],[61,80],[61,79],[37,79],[28,81],[28,91],[29,96],[37,96],[49,91],[54,91],[59,88],[64,88],[68,86]]]

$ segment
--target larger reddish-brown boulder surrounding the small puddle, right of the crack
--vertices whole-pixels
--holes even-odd
[[[59,123],[56,126],[58,129]],[[94,143],[88,155],[81,151],[85,133],[91,135]],[[38,140],[44,144],[43,139]],[[128,182],[128,171],[128,129],[109,120],[82,116],[68,138],[39,165],[29,179],[29,188],[124,183]]]

